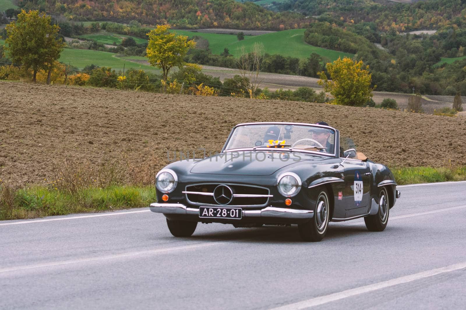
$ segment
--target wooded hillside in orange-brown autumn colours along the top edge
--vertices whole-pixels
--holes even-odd
[[[274,13],[252,2],[234,0],[63,0],[37,4],[21,1],[21,7],[63,15],[71,20],[109,20],[144,24],[170,23],[178,28],[220,27],[278,30],[294,28],[305,19],[301,14]]]

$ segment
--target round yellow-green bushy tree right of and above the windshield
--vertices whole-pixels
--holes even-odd
[[[363,61],[358,62],[348,57],[338,58],[333,63],[327,64],[327,71],[331,80],[325,73],[319,72],[319,85],[329,92],[339,105],[364,106],[372,97],[374,88],[370,87],[372,74],[369,66],[363,68]]]

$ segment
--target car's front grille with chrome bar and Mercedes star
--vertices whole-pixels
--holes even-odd
[[[214,198],[214,191],[219,185],[226,185],[232,191],[232,199],[226,204],[219,204]],[[227,190],[228,191],[228,190]],[[199,183],[187,185],[183,193],[191,204],[224,206],[265,206],[272,195],[268,188],[231,183]],[[226,193],[229,194],[229,193]],[[217,199],[221,202],[221,200]],[[227,201],[228,199],[224,199]]]

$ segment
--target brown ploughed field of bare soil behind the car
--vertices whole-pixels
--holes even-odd
[[[233,125],[256,121],[324,120],[386,165],[466,165],[466,118],[369,107],[0,82],[0,119],[0,179],[11,183],[49,180],[65,159],[150,182],[167,151],[218,152]]]

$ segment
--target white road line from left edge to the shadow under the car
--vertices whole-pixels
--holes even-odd
[[[121,254],[114,254],[114,255],[70,259],[70,260],[51,262],[51,263],[23,265],[23,266],[16,266],[16,267],[1,268],[0,273],[41,268],[41,267],[52,267],[52,266],[58,266],[58,265],[87,263],[87,262],[92,262],[92,261],[108,260],[108,259],[115,259],[115,258],[122,258],[122,257],[133,257],[137,255],[159,254],[159,253],[165,253],[165,252],[171,252],[171,251],[190,250],[190,249],[196,249],[196,248],[218,245],[218,244],[225,244],[225,243],[226,242],[204,242],[200,244],[173,246],[169,248],[161,248],[161,249],[154,249],[154,250],[134,251],[134,252],[121,253]]]

